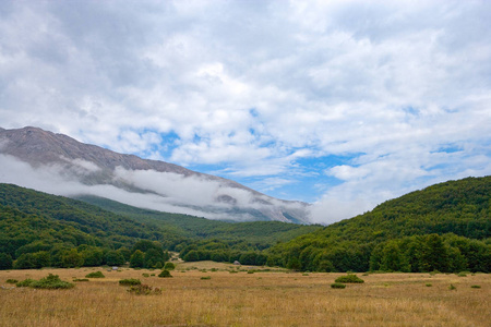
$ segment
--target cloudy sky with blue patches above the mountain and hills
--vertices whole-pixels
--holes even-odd
[[[0,1],[0,126],[332,222],[491,174],[491,1]]]

